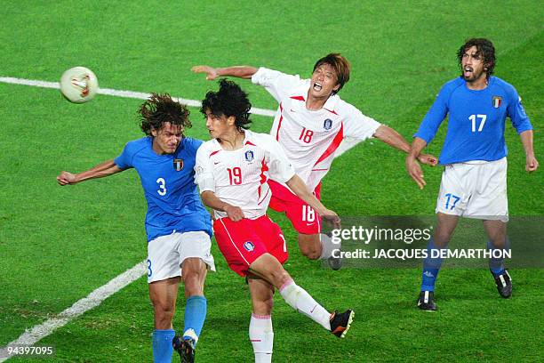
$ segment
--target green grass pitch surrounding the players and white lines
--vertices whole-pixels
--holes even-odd
[[[216,85],[191,73],[193,65],[263,65],[308,77],[318,58],[341,52],[352,78],[340,96],[409,139],[440,86],[458,75],[460,44],[485,36],[498,50],[496,75],[524,98],[535,153],[544,163],[544,12],[538,3],[4,2],[0,77],[54,82],[81,65],[95,71],[102,87],[201,100]],[[254,106],[276,109],[265,90],[240,84]],[[99,95],[75,105],[55,90],[0,83],[0,347],[145,258],[146,206],[136,173],[65,188],[55,181],[61,170],[77,172],[116,157],[126,141],[140,137],[139,104]],[[188,134],[207,139],[203,118],[191,112]],[[270,117],[253,120],[254,130],[268,132]],[[543,215],[542,170],[524,172],[521,142],[507,129],[510,214]],[[439,152],[444,130],[430,152]],[[366,141],[334,162],[323,200],[340,215],[429,215],[440,173],[425,169],[428,186],[420,191],[404,171],[404,155]],[[322,269],[300,255],[287,220],[271,215],[288,238],[287,270],[300,286],[329,309],[356,310],[352,330],[340,341],[277,297],[275,361],[544,359],[542,270],[512,271],[513,298],[502,300],[484,266],[446,269],[437,282],[440,311],[427,314],[415,309],[420,269]],[[206,281],[209,311],[197,361],[251,362],[249,293],[216,246],[213,254],[218,272]],[[183,305],[180,297],[177,327]],[[150,361],[152,330],[148,286],[140,278],[39,344],[57,350],[44,361]]]

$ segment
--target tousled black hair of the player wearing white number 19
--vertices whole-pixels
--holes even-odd
[[[223,78],[219,81],[220,89],[218,92],[210,91],[206,93],[202,101],[200,112],[204,116],[206,113],[212,113],[215,117],[235,117],[235,125],[238,130],[248,129],[252,120],[250,120],[250,110],[252,104],[239,85]]]

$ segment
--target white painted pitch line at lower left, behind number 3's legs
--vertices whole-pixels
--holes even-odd
[[[146,273],[146,269],[146,261],[142,261],[136,264],[131,269],[126,270],[121,275],[111,279],[108,284],[100,286],[91,294],[88,294],[83,299],[78,300],[68,309],[60,312],[60,314],[57,315],[55,318],[47,319],[44,321],[44,323],[37,325],[30,330],[27,330],[25,333],[20,335],[19,338],[11,343],[8,343],[4,348],[0,349],[0,362],[4,362],[4,360],[7,360],[9,358],[7,355],[8,346],[33,345],[45,336],[52,334],[55,329],[59,327],[64,327],[71,319],[82,315],[85,311],[89,311],[92,308],[99,306],[100,303],[106,300],[109,296],[115,294],[124,286],[131,284],[133,281],[143,276],[143,274]]]

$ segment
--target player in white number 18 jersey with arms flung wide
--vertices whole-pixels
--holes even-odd
[[[296,173],[316,198],[320,198],[321,180],[344,138],[365,140],[373,136],[396,149],[410,150],[410,144],[395,130],[364,116],[340,99],[337,93],[348,82],[350,66],[338,53],[317,60],[311,79],[262,67],[196,66],[192,70],[205,73],[210,80],[222,76],[251,78],[254,84],[264,86],[272,94],[279,108],[270,134],[284,147]],[[436,157],[420,155],[418,159],[436,165]],[[285,183],[270,181],[270,189],[270,207],[284,212],[292,222],[302,254],[313,260],[328,259],[332,269],[340,269],[340,259],[332,256],[340,246],[321,234],[321,219],[312,206],[295,196]]]

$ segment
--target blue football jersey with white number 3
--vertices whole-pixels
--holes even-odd
[[[121,169],[133,167],[140,175],[148,201],[148,241],[178,232],[202,230],[212,236],[210,214],[204,208],[195,184],[196,150],[202,141],[184,137],[173,154],[158,155],[153,138],[128,142],[114,160]]]

